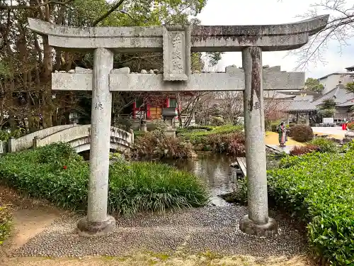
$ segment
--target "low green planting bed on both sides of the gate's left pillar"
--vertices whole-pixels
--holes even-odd
[[[45,156],[51,156],[44,160]],[[66,143],[0,158],[0,182],[57,206],[86,210],[89,163]],[[122,215],[202,206],[207,189],[193,174],[152,162],[110,165],[108,211]]]

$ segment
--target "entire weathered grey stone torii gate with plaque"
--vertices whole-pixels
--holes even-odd
[[[326,26],[329,16],[297,23],[268,26],[154,26],[69,28],[29,18],[29,27],[47,35],[52,47],[93,51],[93,71],[52,74],[52,89],[92,90],[89,206],[78,223],[80,235],[105,235],[115,228],[107,215],[110,113],[112,92],[244,92],[246,164],[249,214],[241,231],[274,235],[277,223],[268,217],[265,162],[263,89],[298,89],[304,73],[264,71],[262,51],[302,47],[309,35]],[[164,74],[129,74],[113,70],[115,52],[163,52]],[[190,51],[242,52],[243,70],[226,73],[190,73]]]

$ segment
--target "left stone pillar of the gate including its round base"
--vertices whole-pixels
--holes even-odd
[[[110,70],[113,70],[113,52],[105,48],[94,50],[89,195],[87,217],[78,223],[81,235],[105,235],[115,228],[115,219],[107,216],[112,109]]]

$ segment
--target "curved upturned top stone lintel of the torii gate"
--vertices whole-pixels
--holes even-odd
[[[280,25],[190,26],[193,52],[239,52],[258,46],[263,51],[292,50],[306,44],[327,25],[329,15]],[[115,52],[162,52],[164,26],[66,27],[28,18],[29,28],[48,35],[49,44],[64,50],[108,48]],[[188,31],[189,31],[188,30]]]

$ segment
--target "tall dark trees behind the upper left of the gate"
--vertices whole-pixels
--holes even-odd
[[[188,23],[205,6],[206,0],[0,0],[0,127],[9,116],[11,127],[24,125],[33,131],[68,123],[73,110],[89,94],[51,90],[51,73],[75,66],[91,68],[91,54],[53,50],[45,36],[28,30],[27,19],[38,18],[62,26],[153,26],[163,23]],[[203,67],[200,55],[193,64]],[[161,53],[115,55],[115,67],[132,71],[160,69]],[[129,93],[115,99],[132,101]],[[87,101],[86,101],[87,102]],[[123,104],[123,107],[124,107]]]

